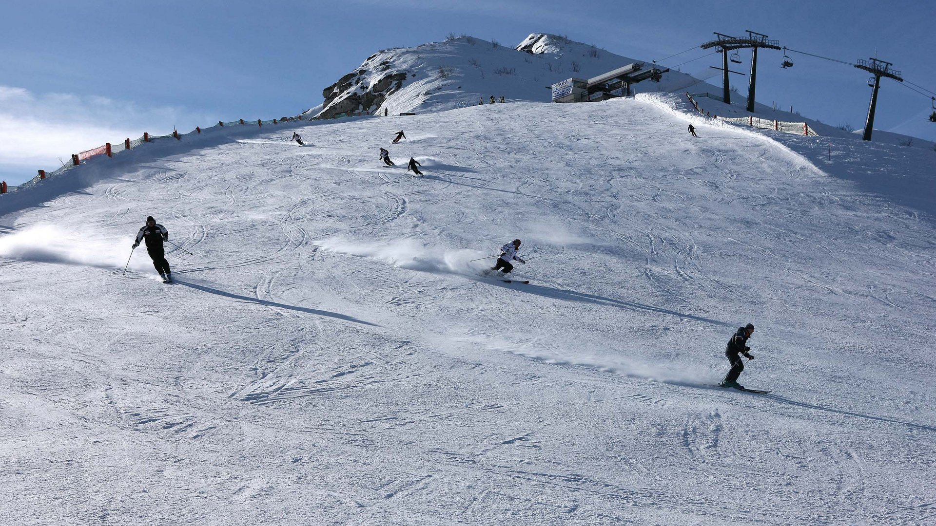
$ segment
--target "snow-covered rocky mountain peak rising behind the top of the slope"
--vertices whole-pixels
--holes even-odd
[[[325,102],[307,116],[330,118],[346,112],[443,111],[488,104],[490,96],[510,101],[547,102],[548,86],[570,77],[589,79],[628,64],[650,61],[623,57],[564,37],[534,33],[516,48],[475,37],[450,37],[416,48],[374,53],[354,71],[325,88]],[[677,71],[660,82],[645,80],[632,93],[715,91]]]

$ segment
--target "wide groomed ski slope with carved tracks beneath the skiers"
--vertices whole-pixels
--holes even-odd
[[[215,130],[0,216],[3,516],[936,522],[931,211],[665,101]],[[770,395],[712,387],[749,321]]]

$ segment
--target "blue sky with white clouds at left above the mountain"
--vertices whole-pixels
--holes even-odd
[[[143,131],[295,115],[322,102],[323,88],[373,52],[443,40],[449,32],[505,46],[554,33],[650,61],[694,48],[715,31],[750,29],[847,62],[877,53],[905,80],[936,92],[936,2],[929,1],[8,0],[0,3],[0,20],[0,179],[7,183]],[[663,64],[707,52],[694,49]],[[781,52],[759,53],[759,102],[792,105],[826,124],[864,125],[867,73],[791,56],[796,66],[784,70]],[[709,56],[680,70],[710,77],[718,61]],[[746,78],[738,82],[746,93]],[[936,124],[926,121],[930,94],[909,87],[883,82],[875,127],[934,140]]]

